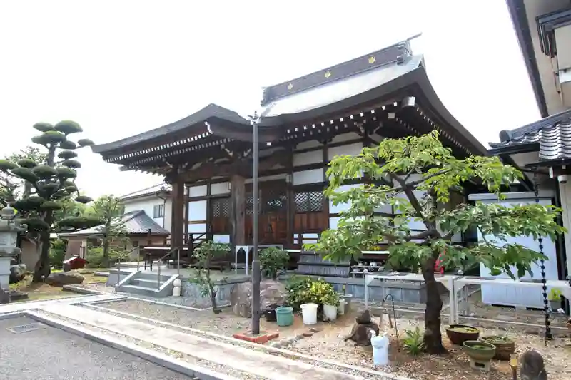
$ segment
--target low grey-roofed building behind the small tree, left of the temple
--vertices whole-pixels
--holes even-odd
[[[127,249],[134,245],[164,245],[168,235],[171,235],[171,232],[158,225],[144,210],[125,212],[115,222],[125,226],[127,237],[131,241],[131,244],[126,247]],[[59,234],[59,237],[68,240],[66,257],[71,255],[83,256],[83,247],[87,247],[88,241],[98,242],[101,236],[101,226]],[[74,247],[76,252],[73,252],[71,247]]]

